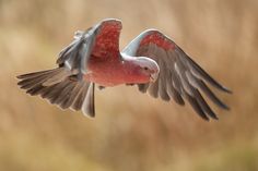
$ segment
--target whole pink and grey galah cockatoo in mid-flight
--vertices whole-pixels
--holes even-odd
[[[19,75],[17,85],[27,94],[39,95],[62,109],[82,110],[95,117],[94,88],[137,85],[142,93],[184,106],[187,100],[204,120],[218,119],[202,91],[222,109],[222,102],[208,84],[224,93],[230,89],[212,78],[169,37],[146,29],[122,51],[119,50],[120,20],[106,19],[74,34],[62,49],[57,68]]]

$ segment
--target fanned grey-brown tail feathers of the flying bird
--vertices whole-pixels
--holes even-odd
[[[61,109],[82,110],[95,115],[94,83],[80,81],[66,68],[19,75],[17,85],[32,96],[39,95]]]

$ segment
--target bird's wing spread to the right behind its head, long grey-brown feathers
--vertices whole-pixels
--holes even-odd
[[[209,120],[209,117],[213,119],[218,118],[203,99],[200,90],[222,109],[228,109],[228,107],[211,91],[207,83],[222,91],[231,91],[212,78],[172,39],[161,32],[148,29],[141,33],[122,52],[128,56],[151,58],[155,60],[160,66],[160,75],[156,82],[139,84],[138,87],[140,91],[149,91],[151,96],[155,98],[160,96],[166,101],[174,99],[179,105],[185,105],[185,98],[204,120]]]

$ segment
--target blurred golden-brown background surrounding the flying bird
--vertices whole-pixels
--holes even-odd
[[[94,120],[16,86],[51,69],[74,30],[122,20],[120,45],[154,27],[234,94],[219,121],[137,87],[96,90]],[[0,0],[0,170],[257,171],[257,0]],[[211,103],[211,102],[210,102]]]

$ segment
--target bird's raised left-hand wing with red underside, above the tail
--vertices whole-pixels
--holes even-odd
[[[73,41],[59,53],[57,64],[85,74],[90,58],[119,57],[120,29],[119,20],[107,19],[85,32],[77,32]]]

